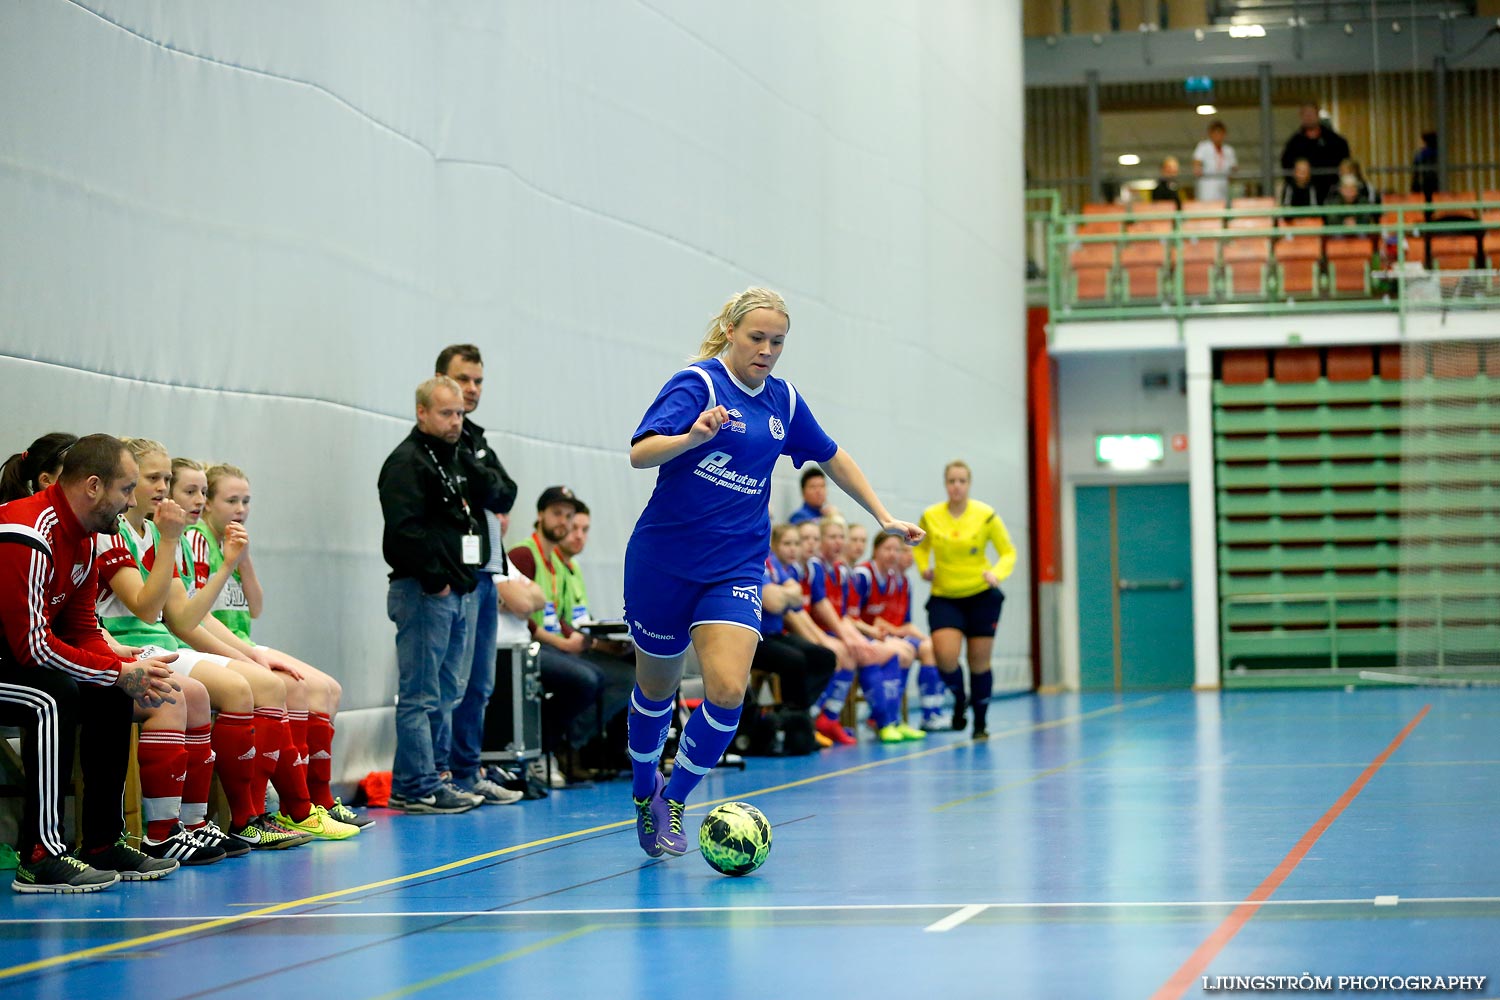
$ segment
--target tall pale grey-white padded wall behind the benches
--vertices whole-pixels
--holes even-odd
[[[651,489],[628,433],[765,283],[778,373],[892,510],[975,466],[1023,550],[996,649],[1022,672],[1020,57],[988,0],[4,4],[3,451],[110,430],[246,466],[258,634],[376,709],[375,475],[438,349],[484,351],[512,537],[570,484],[618,612]],[[352,765],[345,736],[351,772],[388,732]]]

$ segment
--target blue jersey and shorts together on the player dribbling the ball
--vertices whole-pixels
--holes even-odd
[[[790,382],[766,378],[752,390],[717,358],[674,375],[630,441],[687,433],[714,406],[729,418],[658,468],[626,549],[626,615],[636,645],[657,657],[686,649],[692,625],[759,631],[776,460],[826,462],[838,451]]]

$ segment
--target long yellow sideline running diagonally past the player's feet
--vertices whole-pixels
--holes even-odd
[[[998,739],[1005,739],[1006,736],[1022,736],[1026,733],[1038,733],[1048,729],[1058,729],[1059,726],[1071,726],[1072,723],[1083,723],[1090,718],[1098,718],[1100,715],[1112,715],[1114,712],[1122,712],[1126,708],[1140,708],[1144,705],[1152,705],[1160,702],[1162,696],[1140,699],[1136,702],[1124,702],[1120,705],[1112,705],[1108,708],[1095,709],[1092,712],[1083,712],[1078,715],[1065,715],[1064,718],[1054,718],[1047,723],[1035,723],[1030,726],[1017,726],[1014,729],[999,730],[990,733],[990,742]],[[888,765],[904,763],[908,760],[916,760],[920,757],[930,757],[933,754],[950,753],[960,747],[972,747],[972,741],[960,741],[954,744],[944,744],[942,747],[932,747],[930,750],[920,750],[910,754],[902,754],[900,757],[885,757],[884,760],[872,760],[862,765],[855,765],[854,768],[843,768],[840,771],[830,771],[828,774],[813,775],[812,778],[802,778],[800,781],[788,781],[784,784],[776,784],[768,789],[758,789],[754,792],[742,792],[741,795],[732,795],[722,799],[710,799],[708,802],[694,802],[688,807],[692,810],[706,810],[710,807],[718,805],[722,802],[735,802],[740,799],[748,799],[758,795],[770,795],[772,792],[784,792],[786,789],[796,789],[806,784],[814,784],[818,781],[828,781],[831,778],[843,778],[852,774],[860,774],[861,771],[870,771],[873,768],[885,768]],[[634,819],[620,820],[618,823],[603,823],[600,826],[590,826],[580,831],[572,831],[568,834],[556,834],[554,837],[543,837],[542,840],[534,840],[525,844],[514,844],[512,847],[501,847],[500,850],[486,852],[483,855],[474,855],[472,858],[464,858],[460,861],[450,861],[446,865],[438,865],[436,868],[426,868],[423,871],[414,871],[406,876],[394,876],[392,879],[382,879],[380,882],[370,882],[362,886],[351,886],[348,889],[334,889],[332,892],[321,892],[318,895],[304,897],[302,900],[288,900],[286,903],[276,903],[273,906],[261,907],[258,910],[250,910],[248,913],[236,913],[232,916],[220,916],[202,924],[192,924],[188,927],[178,927],[168,931],[158,931],[154,934],[142,934],[141,937],[130,937],[123,942],[114,942],[111,945],[96,945],[93,948],[82,948],[76,952],[66,952],[62,955],[52,955],[51,958],[38,958],[36,961],[22,963],[20,966],[10,966],[9,969],[0,969],[0,979],[14,979],[15,976],[24,976],[33,972],[42,972],[46,969],[57,969],[58,966],[68,966],[72,963],[87,961],[90,958],[100,958],[120,951],[128,951],[132,948],[141,948],[144,945],[159,945],[162,942],[176,940],[178,937],[188,937],[190,934],[201,934],[204,931],[213,931],[220,927],[228,927],[231,924],[243,924],[244,921],[254,921],[260,916],[270,916],[272,913],[282,913],[285,910],[296,910],[297,907],[312,906],[315,903],[327,903],[328,900],[338,900],[340,897],[350,897],[356,892],[369,892],[370,889],[384,889],[386,886],[400,885],[402,882],[414,882],[417,879],[426,879],[428,876],[442,874],[444,871],[453,871],[454,868],[464,868],[465,865],[478,864],[482,861],[490,861],[492,858],[502,858],[506,855],[514,855],[522,850],[531,850],[532,847],[543,847],[546,844],[556,844],[564,840],[573,840],[574,837],[588,837],[590,834],[602,834],[604,831],[621,829],[632,826]],[[128,918],[122,918],[128,919]]]

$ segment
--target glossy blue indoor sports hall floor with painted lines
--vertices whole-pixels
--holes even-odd
[[[776,826],[747,879],[646,859],[614,783],[4,894],[0,1000],[1500,996],[1500,690],[1023,697],[990,730],[712,775],[690,816]]]

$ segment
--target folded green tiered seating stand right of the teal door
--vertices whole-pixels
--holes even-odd
[[[1485,346],[1467,378],[1400,378],[1390,348],[1221,355],[1226,684],[1500,663],[1500,343]]]

